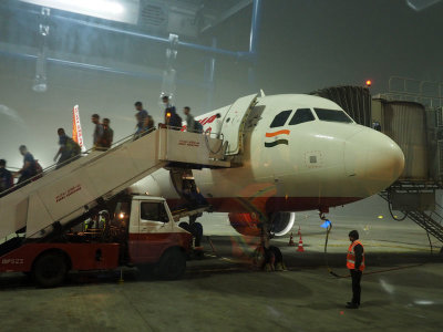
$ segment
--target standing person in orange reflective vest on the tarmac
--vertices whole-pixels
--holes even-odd
[[[349,232],[349,240],[351,245],[348,249],[347,268],[352,277],[352,300],[347,303],[347,308],[358,309],[360,307],[361,293],[360,281],[364,270],[364,248],[359,240],[359,232],[357,230]]]

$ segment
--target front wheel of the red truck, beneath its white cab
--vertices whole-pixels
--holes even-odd
[[[169,249],[163,253],[155,269],[155,274],[164,280],[175,280],[185,273],[186,257],[177,248]]]

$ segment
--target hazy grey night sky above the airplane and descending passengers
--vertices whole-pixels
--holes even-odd
[[[216,37],[219,48],[247,51],[250,12],[250,7],[244,9],[197,40],[181,40],[210,44]],[[443,3],[416,12],[404,0],[264,1],[255,86],[248,84],[248,63],[217,56],[213,106],[230,104],[259,87],[267,94],[303,93],[372,79],[372,91],[378,93],[387,90],[391,75],[443,81],[442,14]],[[74,104],[80,104],[89,147],[92,113],[111,118],[116,138],[133,132],[135,101],[147,103],[158,117],[164,45],[92,28],[51,25],[50,56],[153,76],[49,63],[49,89],[35,93],[31,89],[35,60],[4,52],[37,54],[37,19],[0,7],[0,157],[10,166],[21,166],[20,144],[49,166],[58,149],[55,131],[62,126],[70,132]],[[178,110],[189,105],[195,114],[207,111],[207,89],[202,84],[207,58],[178,49]]]

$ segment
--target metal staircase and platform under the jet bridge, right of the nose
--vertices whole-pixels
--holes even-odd
[[[379,195],[388,201],[392,218],[409,218],[443,243],[443,207],[436,203],[436,190],[442,188],[439,181],[398,180]],[[402,216],[395,216],[393,210]]]

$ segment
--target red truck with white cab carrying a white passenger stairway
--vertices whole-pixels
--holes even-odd
[[[0,272],[60,284],[71,270],[155,263],[164,279],[186,268],[192,235],[161,197],[125,188],[161,167],[229,167],[217,138],[162,128],[107,152],[92,152],[0,198]],[[3,193],[4,194],[4,193]]]

